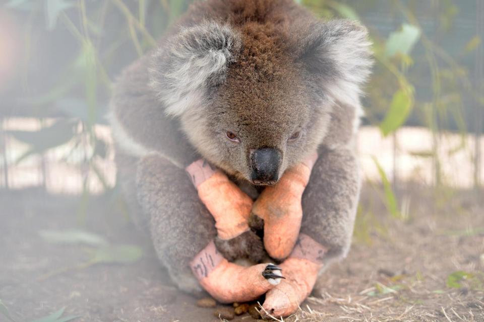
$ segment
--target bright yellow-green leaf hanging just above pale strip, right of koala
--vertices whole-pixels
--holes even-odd
[[[407,120],[410,111],[413,107],[413,89],[398,90],[392,99],[390,109],[388,110],[382,123],[380,123],[380,130],[384,136],[394,132]]]

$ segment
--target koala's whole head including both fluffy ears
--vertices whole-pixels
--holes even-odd
[[[348,21],[286,32],[206,21],[154,53],[151,88],[203,157],[270,185],[316,151],[336,102],[359,107],[369,45],[366,30]]]

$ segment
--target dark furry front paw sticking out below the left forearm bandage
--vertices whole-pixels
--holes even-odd
[[[228,240],[216,237],[215,246],[228,261],[248,258],[255,263],[260,263],[267,256],[262,239],[252,230]]]

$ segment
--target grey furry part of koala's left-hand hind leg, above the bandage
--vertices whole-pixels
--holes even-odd
[[[138,163],[136,184],[161,263],[180,289],[202,292],[190,262],[215,237],[215,222],[185,169],[161,156],[147,156]]]

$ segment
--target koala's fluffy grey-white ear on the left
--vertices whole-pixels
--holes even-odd
[[[152,56],[150,86],[169,115],[200,103],[210,86],[225,80],[227,65],[240,51],[238,32],[205,21],[182,29]]]

